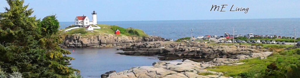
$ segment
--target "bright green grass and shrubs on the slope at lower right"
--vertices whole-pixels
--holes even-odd
[[[225,76],[240,78],[299,78],[300,49],[273,53],[268,59],[241,60],[237,66],[215,66],[207,70],[226,72]]]

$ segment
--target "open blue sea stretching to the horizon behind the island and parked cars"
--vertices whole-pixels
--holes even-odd
[[[73,22],[60,22],[65,28]],[[99,21],[98,24],[118,25],[123,28],[138,28],[152,35],[167,39],[177,39],[190,36],[224,35],[224,32],[245,35],[248,33],[260,35],[300,36],[300,18],[280,19],[234,19],[234,20],[163,20],[163,21]]]

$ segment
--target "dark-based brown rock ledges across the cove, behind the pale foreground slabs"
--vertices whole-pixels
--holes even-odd
[[[195,62],[208,62],[214,58],[247,59],[252,54],[270,52],[261,46],[232,45],[211,46],[204,42],[145,42],[135,43],[131,47],[120,48],[125,52],[122,55],[159,55],[159,60],[170,61],[177,59],[189,59]],[[262,56],[262,58],[266,58]]]

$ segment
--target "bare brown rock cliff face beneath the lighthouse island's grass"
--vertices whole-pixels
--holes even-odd
[[[146,37],[131,37],[131,36],[116,36],[114,34],[99,34],[88,37],[83,37],[81,34],[66,35],[64,38],[64,48],[90,48],[90,47],[119,47],[131,46],[132,43],[151,42],[152,36]],[[167,39],[154,36],[155,41],[168,41]]]

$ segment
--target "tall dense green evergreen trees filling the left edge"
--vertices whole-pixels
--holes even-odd
[[[72,57],[61,49],[55,15],[36,20],[24,0],[6,0],[9,8],[0,13],[0,66],[7,73],[24,78],[68,78],[77,69],[69,67]]]

